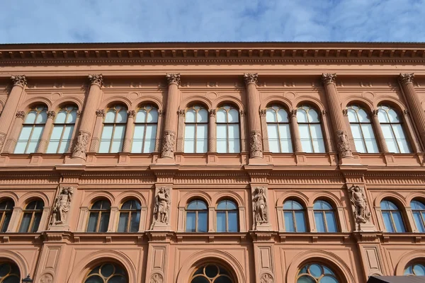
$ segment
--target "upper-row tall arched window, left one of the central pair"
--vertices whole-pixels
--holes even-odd
[[[194,105],[186,110],[184,152],[204,153],[208,147],[208,111]]]

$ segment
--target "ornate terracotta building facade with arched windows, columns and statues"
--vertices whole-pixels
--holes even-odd
[[[425,45],[0,45],[0,283],[425,275]]]

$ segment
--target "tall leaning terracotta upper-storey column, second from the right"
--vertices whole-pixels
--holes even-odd
[[[336,91],[336,74],[322,74],[322,81],[324,86],[324,93],[327,97],[329,105],[329,113],[334,128],[334,137],[336,140],[336,149],[338,150],[339,158],[352,158],[350,143],[348,141],[348,134],[342,115],[341,103],[338,98],[338,91]]]

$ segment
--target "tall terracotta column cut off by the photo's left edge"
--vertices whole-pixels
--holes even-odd
[[[18,108],[19,99],[27,84],[26,76],[11,76],[11,80],[13,82],[13,88],[11,93],[9,93],[0,116],[0,152],[6,140],[8,129],[12,124],[16,108]]]

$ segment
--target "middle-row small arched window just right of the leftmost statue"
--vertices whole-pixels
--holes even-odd
[[[109,215],[111,214],[111,202],[108,200],[98,200],[90,209],[89,224],[87,232],[108,231]]]

